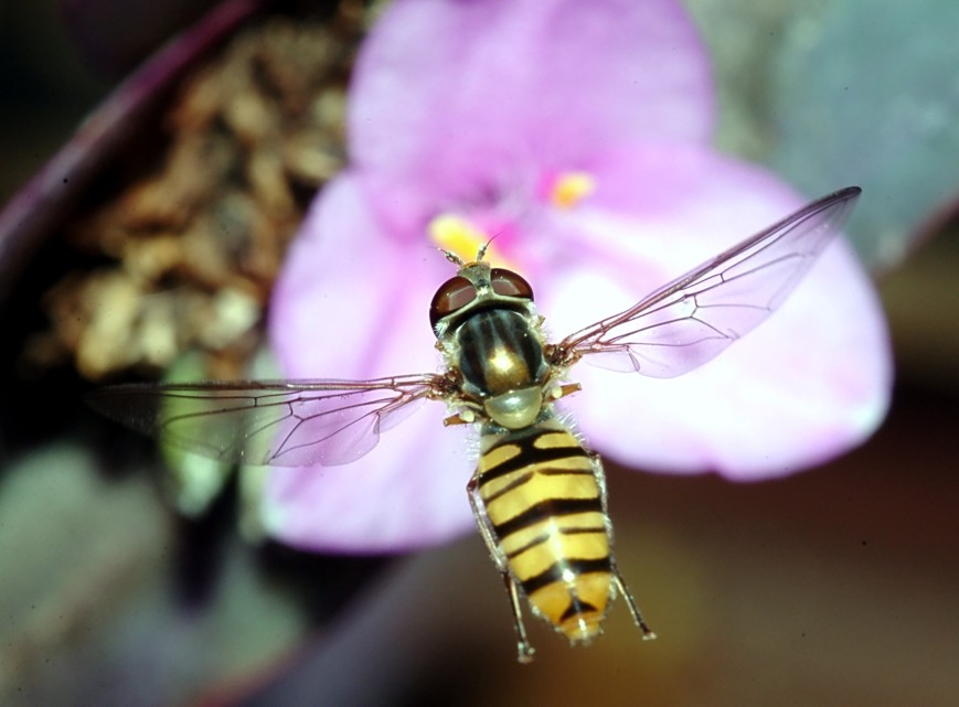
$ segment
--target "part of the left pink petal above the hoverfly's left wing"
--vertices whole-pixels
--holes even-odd
[[[352,175],[313,202],[273,293],[270,338],[288,377],[435,371],[429,301],[456,275],[425,242],[387,238]]]

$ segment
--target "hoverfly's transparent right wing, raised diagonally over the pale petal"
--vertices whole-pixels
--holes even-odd
[[[747,238],[626,311],[556,346],[616,371],[670,378],[706,363],[778,308],[839,233],[860,194],[823,196]]]

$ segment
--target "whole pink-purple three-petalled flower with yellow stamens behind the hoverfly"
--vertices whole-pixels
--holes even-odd
[[[355,69],[352,167],[313,204],[275,291],[284,374],[436,369],[427,309],[455,272],[428,234],[496,234],[489,259],[533,285],[556,340],[806,201],[715,152],[713,118],[705,51],[672,0],[398,0]],[[618,462],[764,479],[861,442],[891,375],[876,294],[838,244],[716,361],[669,381],[579,365],[569,408]],[[276,470],[268,528],[350,551],[468,531],[473,454],[445,415],[425,406],[350,467]]]

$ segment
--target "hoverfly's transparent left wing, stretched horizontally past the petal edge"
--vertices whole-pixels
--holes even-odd
[[[102,388],[90,405],[118,422],[214,459],[269,467],[335,465],[369,452],[446,382],[244,381]]]

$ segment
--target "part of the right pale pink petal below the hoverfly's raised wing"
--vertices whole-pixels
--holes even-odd
[[[845,244],[767,322],[685,376],[653,381],[582,366],[584,431],[650,471],[782,475],[857,446],[889,403],[880,303]]]

